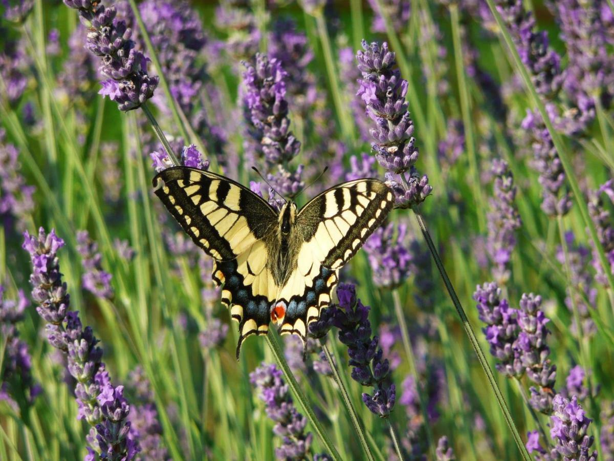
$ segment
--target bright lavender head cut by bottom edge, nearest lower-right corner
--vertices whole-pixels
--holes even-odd
[[[585,416],[575,396],[571,401],[560,394],[555,396],[550,420],[550,436],[555,439],[556,451],[562,457],[596,461],[597,452],[590,451],[594,437],[587,435],[592,420]]]

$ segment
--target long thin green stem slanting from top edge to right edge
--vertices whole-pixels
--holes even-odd
[[[599,262],[604,269],[605,276],[608,279],[608,285],[610,285],[610,288],[612,289],[614,288],[614,275],[610,270],[610,263],[605,256],[604,247],[599,240],[599,236],[597,235],[597,227],[595,226],[595,223],[593,223],[593,219],[591,219],[591,216],[589,215],[588,205],[586,205],[586,200],[584,199],[582,191],[580,189],[580,184],[578,184],[578,180],[575,176],[575,170],[573,169],[573,165],[569,156],[569,152],[567,151],[567,147],[562,142],[559,133],[554,129],[552,121],[550,120],[550,116],[548,116],[548,112],[546,112],[546,107],[542,101],[542,98],[540,98],[540,96],[538,95],[537,90],[535,89],[535,85],[530,79],[529,72],[524,66],[523,61],[521,61],[520,59],[518,50],[516,50],[514,42],[511,39],[510,32],[508,31],[507,26],[503,22],[503,18],[499,14],[499,11],[495,7],[494,1],[486,0],[486,2],[488,2],[488,6],[490,7],[492,14],[497,21],[497,25],[499,26],[499,29],[503,34],[503,39],[507,44],[508,48],[510,49],[515,65],[518,68],[518,71],[520,72],[521,76],[523,77],[524,85],[529,89],[529,92],[534,100],[535,106],[537,106],[537,109],[542,116],[543,122],[546,125],[546,128],[548,128],[548,132],[550,133],[550,136],[554,143],[554,147],[559,154],[559,159],[561,159],[561,164],[565,169],[565,175],[567,175],[567,180],[569,181],[569,185],[572,188],[573,195],[575,196],[576,202],[578,203],[578,208],[580,208],[580,213],[582,215],[584,224],[586,227],[588,227],[589,233],[591,234],[591,239],[593,240],[594,247],[597,250],[597,256],[599,256]]]

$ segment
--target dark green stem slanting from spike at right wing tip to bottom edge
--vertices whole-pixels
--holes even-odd
[[[484,373],[486,374],[486,379],[488,379],[488,384],[490,385],[492,392],[494,393],[495,398],[497,399],[497,404],[499,404],[499,408],[501,409],[501,412],[503,413],[505,422],[507,423],[508,428],[510,428],[511,435],[513,436],[514,441],[516,442],[516,445],[518,446],[518,449],[520,451],[520,454],[523,460],[529,461],[530,460],[529,452],[527,452],[527,449],[524,446],[523,440],[520,438],[520,434],[518,433],[518,428],[516,428],[513,417],[511,417],[510,409],[507,407],[507,403],[505,403],[505,399],[503,398],[501,390],[499,389],[497,380],[495,380],[495,377],[492,374],[490,367],[488,366],[488,361],[486,361],[484,352],[482,351],[482,348],[480,347],[480,342],[478,342],[478,338],[475,336],[475,333],[473,332],[473,328],[471,326],[471,323],[469,323],[467,314],[465,313],[465,310],[463,309],[461,305],[461,301],[459,301],[459,298],[456,294],[456,291],[454,290],[454,286],[452,285],[452,282],[450,281],[448,277],[445,267],[443,267],[443,262],[441,261],[441,257],[439,256],[439,253],[437,251],[437,248],[435,247],[435,244],[433,243],[432,238],[430,238],[429,230],[426,227],[424,218],[422,217],[417,207],[414,208],[413,210],[414,210],[414,214],[416,215],[416,219],[418,220],[418,225],[420,226],[420,230],[422,231],[422,235],[424,235],[426,243],[429,246],[430,254],[433,256],[433,259],[435,260],[435,264],[437,265],[437,269],[439,270],[439,274],[441,275],[441,278],[443,279],[444,285],[446,285],[446,289],[448,290],[450,299],[452,300],[454,307],[456,307],[456,312],[458,313],[459,317],[461,317],[462,326],[465,329],[465,333],[467,333],[467,336],[469,338],[469,341],[471,342],[473,350],[475,350],[475,353],[478,357],[478,361],[480,362],[480,365],[482,369],[484,370]]]

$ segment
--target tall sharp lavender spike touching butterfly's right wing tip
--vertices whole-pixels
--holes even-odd
[[[370,133],[379,164],[386,168],[386,183],[395,193],[397,207],[410,208],[426,199],[432,191],[426,175],[420,176],[413,121],[407,111],[405,95],[408,82],[401,77],[395,53],[384,42],[367,44],[357,53],[362,73],[358,95],[367,104],[367,115],[375,122]],[[406,178],[406,172],[409,178]]]

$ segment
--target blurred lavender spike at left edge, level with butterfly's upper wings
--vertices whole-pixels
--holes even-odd
[[[6,132],[0,128],[0,219],[7,229],[21,231],[34,211],[36,188],[26,184],[18,157],[17,147],[6,141]]]

